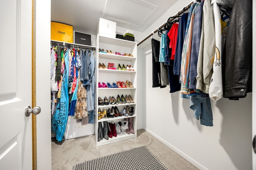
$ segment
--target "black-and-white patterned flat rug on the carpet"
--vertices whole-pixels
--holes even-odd
[[[76,164],[72,170],[168,170],[146,146]]]

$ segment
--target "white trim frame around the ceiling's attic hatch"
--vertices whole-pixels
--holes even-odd
[[[140,27],[146,20],[148,20],[148,18],[156,11],[156,9],[158,8],[158,6],[154,5],[154,4],[151,4],[149,2],[146,2],[144,0],[131,0],[133,2],[136,2],[136,3],[140,3],[144,6],[147,6],[149,8],[151,8],[152,10],[145,16],[145,18],[143,18],[142,21],[140,21],[139,24],[134,24],[134,23],[130,23],[130,22],[127,22],[127,21],[122,21],[122,20],[118,20],[118,19],[115,19],[115,18],[111,18],[111,17],[108,17],[107,14],[108,14],[108,9],[110,7],[110,4],[111,4],[111,0],[107,0],[106,2],[106,5],[105,5],[105,8],[104,8],[104,12],[103,12],[103,15],[102,15],[102,18],[104,19],[107,19],[107,20],[111,20],[111,21],[116,21],[116,22],[119,22],[119,23],[124,23],[126,25],[132,25],[132,26],[135,26],[135,27]]]

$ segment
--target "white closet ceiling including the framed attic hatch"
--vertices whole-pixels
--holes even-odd
[[[51,21],[96,35],[100,18],[144,32],[177,0],[51,0]]]

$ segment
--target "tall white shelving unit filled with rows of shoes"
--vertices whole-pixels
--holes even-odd
[[[96,94],[95,94],[95,103],[96,103],[96,110],[95,110],[95,141],[96,141],[96,147],[107,145],[109,143],[114,143],[130,138],[136,138],[137,137],[137,108],[136,108],[136,101],[137,101],[137,42],[133,41],[127,41],[123,39],[116,39],[116,38],[109,38],[109,37],[103,37],[98,35],[96,40],[96,46],[100,49],[104,49],[105,51],[112,51],[113,54],[108,53],[99,53],[97,50],[97,57],[96,57]],[[115,52],[119,52],[120,54],[128,53],[132,54],[134,57],[129,56],[123,56],[123,55],[115,55]],[[108,63],[114,63],[115,68],[117,68],[118,64],[122,66],[132,65],[134,68],[134,71],[130,70],[112,70],[112,69],[99,69],[98,64],[104,63],[106,67],[108,67]],[[118,81],[126,82],[126,80],[132,82],[132,85],[134,88],[98,88],[98,82],[102,84],[104,82],[107,84],[108,82],[112,84],[113,82],[116,83]],[[117,84],[117,83],[116,83]],[[105,96],[109,98],[110,96],[114,96],[117,100],[117,96],[121,95],[131,95],[134,103],[126,103],[126,104],[114,104],[114,105],[104,105],[99,106],[98,105],[98,97],[102,98],[104,100]],[[135,134],[126,134],[117,137],[109,138],[108,140],[103,139],[100,142],[98,142],[98,123],[103,121],[114,121],[119,122],[122,121],[124,118],[127,118],[127,116],[119,116],[119,117],[112,117],[112,118],[105,118],[98,120],[98,108],[103,111],[104,109],[108,109],[112,106],[118,107],[119,112],[122,112],[124,107],[130,106],[134,107],[134,115],[128,116],[133,117],[133,129],[135,131]],[[103,127],[103,123],[102,123]]]

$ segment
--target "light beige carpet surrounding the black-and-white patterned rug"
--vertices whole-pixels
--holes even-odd
[[[137,131],[137,138],[98,148],[95,145],[94,135],[63,140],[61,145],[52,140],[52,170],[72,170],[75,164],[141,146],[146,146],[170,170],[198,170],[143,129]],[[128,163],[129,158],[123,161]]]

